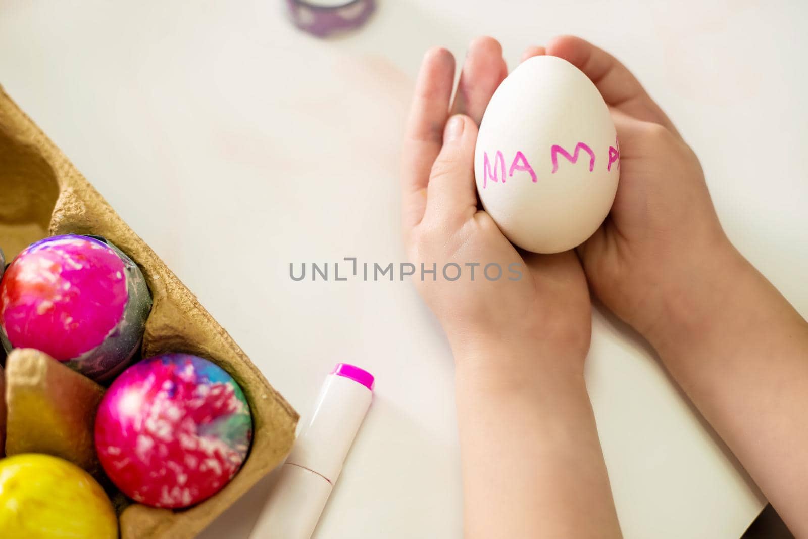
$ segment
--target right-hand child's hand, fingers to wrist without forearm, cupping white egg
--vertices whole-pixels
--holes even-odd
[[[612,110],[620,183],[607,221],[579,255],[593,293],[647,336],[696,292],[696,275],[720,271],[730,243],[696,155],[629,70],[577,37],[551,41],[547,53],[583,70]]]

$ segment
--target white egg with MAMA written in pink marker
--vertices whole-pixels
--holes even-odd
[[[568,61],[532,57],[494,92],[474,175],[483,207],[514,245],[557,253],[586,241],[612,207],[619,169],[608,107]]]

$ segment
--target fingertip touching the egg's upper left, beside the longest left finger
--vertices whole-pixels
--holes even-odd
[[[480,124],[482,113],[500,82],[507,76],[503,48],[491,37],[478,37],[469,44],[452,114],[465,114]]]

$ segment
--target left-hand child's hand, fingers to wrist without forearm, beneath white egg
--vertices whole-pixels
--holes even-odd
[[[473,42],[449,118],[454,69],[447,50],[427,53],[403,152],[404,236],[419,292],[457,360],[495,351],[523,364],[525,356],[567,360],[580,372],[590,303],[574,252],[520,255],[477,207],[477,124],[507,74],[502,48],[490,38]],[[421,280],[421,264],[436,274]]]

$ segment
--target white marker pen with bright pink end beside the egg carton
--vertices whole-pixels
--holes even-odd
[[[250,539],[309,539],[343,469],[373,395],[373,376],[338,364],[322,385],[314,416],[280,470]]]

